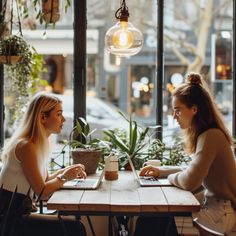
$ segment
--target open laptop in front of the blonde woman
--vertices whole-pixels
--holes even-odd
[[[62,189],[95,190],[99,187],[104,176],[104,169],[97,176],[86,179],[73,179],[63,184]]]

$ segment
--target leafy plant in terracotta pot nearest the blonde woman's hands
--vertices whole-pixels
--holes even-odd
[[[79,117],[71,132],[70,141],[67,143],[72,148],[73,163],[83,164],[87,174],[96,172],[107,146],[106,141],[92,138],[95,131],[95,129],[90,130],[88,122]]]

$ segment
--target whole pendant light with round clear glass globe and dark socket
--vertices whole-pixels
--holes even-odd
[[[105,48],[120,57],[129,57],[140,52],[143,46],[143,35],[140,30],[128,22],[129,11],[125,0],[115,13],[119,21],[105,35]]]

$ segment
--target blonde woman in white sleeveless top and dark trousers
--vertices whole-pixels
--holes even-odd
[[[48,138],[61,131],[64,121],[61,101],[52,94],[38,93],[30,101],[21,125],[4,148],[0,173],[0,214],[3,219],[16,191],[11,219],[8,220],[10,232],[5,235],[64,235],[56,216],[30,214],[34,195],[48,199],[65,181],[86,178],[84,166],[80,164],[52,175],[48,173]],[[17,221],[16,229],[10,227],[14,220]],[[76,234],[75,221],[66,220],[65,225],[68,235]]]

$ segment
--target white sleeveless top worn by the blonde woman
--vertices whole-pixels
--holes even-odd
[[[6,162],[3,164],[2,171],[0,173],[0,186],[3,186],[4,189],[11,192],[14,192],[17,186],[17,193],[26,195],[30,188],[30,184],[23,173],[21,162],[16,158],[16,145],[10,150]],[[40,173],[43,179],[46,180],[47,164],[42,158],[38,158],[38,160]],[[31,189],[31,198],[33,198],[33,194],[34,191]]]

